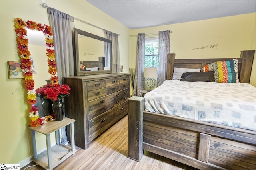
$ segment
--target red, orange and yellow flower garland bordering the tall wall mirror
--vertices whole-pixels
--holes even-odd
[[[28,103],[31,105],[28,114],[31,119],[30,126],[36,127],[38,125],[43,125],[48,121],[52,121],[52,119],[48,120],[47,116],[44,118],[39,117],[38,108],[34,106],[36,104],[36,92],[34,89],[35,83],[33,79],[32,61],[30,59],[31,54],[28,49],[28,38],[26,29],[42,31],[44,33],[46,41],[46,56],[49,66],[48,73],[50,74],[50,82],[52,85],[54,85],[58,84],[58,76],[56,69],[52,28],[49,25],[42,25],[40,23],[36,23],[30,20],[23,21],[21,18],[14,19],[14,27],[16,32],[16,43],[18,49],[17,52],[20,57],[20,67],[24,78],[23,80],[25,88],[27,90],[27,100]]]

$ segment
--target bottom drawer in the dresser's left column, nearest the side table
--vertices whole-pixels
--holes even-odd
[[[105,126],[107,123],[113,120],[113,109],[98,115],[94,119],[89,121],[89,134],[92,135],[98,129]]]

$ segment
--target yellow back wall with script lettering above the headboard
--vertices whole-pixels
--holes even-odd
[[[138,33],[170,33],[170,53],[176,59],[240,57],[240,51],[255,50],[255,13],[131,30]],[[157,36],[157,35],[149,35]],[[135,68],[137,37],[130,37],[130,67]],[[217,48],[210,46],[217,45]],[[255,58],[250,84],[255,86]]]

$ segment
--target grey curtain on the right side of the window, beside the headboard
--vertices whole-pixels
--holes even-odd
[[[170,31],[159,31],[157,86],[160,86],[166,80],[168,53],[170,53]]]

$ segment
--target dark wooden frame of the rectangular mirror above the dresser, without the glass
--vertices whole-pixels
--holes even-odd
[[[90,37],[93,39],[98,39],[99,41],[104,41],[110,43],[110,70],[98,70],[98,71],[80,71],[79,67],[79,46],[78,46],[78,34]],[[85,76],[85,75],[94,75],[94,74],[109,74],[112,73],[112,41],[86,31],[74,28],[74,72],[75,76]]]

